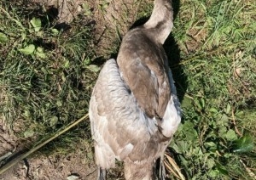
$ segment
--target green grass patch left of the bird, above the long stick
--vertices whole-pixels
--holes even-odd
[[[0,12],[1,118],[20,138],[45,138],[88,111],[99,70],[90,65],[93,27],[83,17],[61,27],[44,8],[22,1],[4,1]],[[63,144],[77,137],[74,131]]]

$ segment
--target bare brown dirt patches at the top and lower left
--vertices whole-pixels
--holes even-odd
[[[79,13],[83,13],[81,5],[88,3],[92,10],[91,19],[96,20],[96,37],[99,40],[97,47],[99,49],[106,49],[113,43],[113,37],[115,37],[113,33],[116,33],[117,27],[120,34],[123,35],[136,19],[138,10],[138,4],[134,3],[136,1],[133,0],[34,0],[34,2],[44,4],[45,8],[53,6],[58,8],[59,22],[67,24]],[[107,3],[108,6],[103,7],[103,3]],[[124,17],[125,19],[123,19]],[[97,55],[104,54],[99,53]],[[16,138],[8,129],[0,117],[0,166],[3,166],[3,160],[25,147],[24,140]],[[79,149],[67,156],[38,155],[20,161],[0,175],[0,180],[12,179],[90,180],[96,179],[96,165],[88,164],[85,155]]]

